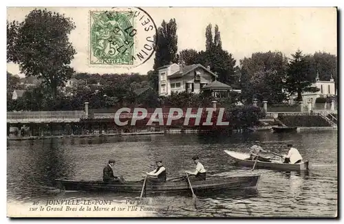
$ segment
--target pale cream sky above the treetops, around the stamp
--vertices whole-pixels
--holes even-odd
[[[34,8],[8,8],[8,21],[23,21]],[[77,72],[147,74],[153,69],[154,56],[133,69],[92,67],[89,55],[89,10],[108,8],[47,8],[71,17],[76,23],[69,40],[77,54],[71,66]],[[157,26],[175,18],[178,52],[182,49],[205,49],[205,30],[211,23],[219,26],[222,48],[239,60],[254,52],[280,51],[286,56],[301,49],[305,54],[337,54],[336,8],[143,8]],[[18,65],[8,63],[8,71],[20,74]]]

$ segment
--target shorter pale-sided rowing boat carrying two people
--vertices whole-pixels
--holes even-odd
[[[250,155],[246,153],[237,153],[230,150],[224,150],[225,153],[230,155],[237,164],[241,166],[250,166],[252,167],[255,164],[254,160],[250,160]],[[286,170],[286,171],[300,171],[300,170],[308,170],[308,160],[303,160],[299,164],[283,164],[283,162],[279,159],[271,159],[271,162],[266,161],[257,161],[257,168],[267,168],[271,170]]]

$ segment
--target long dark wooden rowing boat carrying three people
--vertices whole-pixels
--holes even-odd
[[[257,189],[260,175],[237,175],[231,177],[206,179],[195,181],[191,179],[194,192],[211,192],[215,190]],[[103,181],[66,180],[56,179],[61,190],[76,190],[86,192],[141,192],[142,181],[127,181],[126,183],[104,183]],[[179,181],[166,181],[164,183],[149,183],[145,185],[147,193],[180,193],[190,192],[186,179]]]

